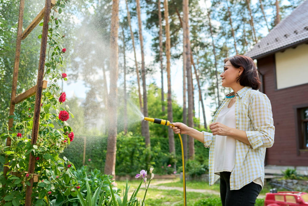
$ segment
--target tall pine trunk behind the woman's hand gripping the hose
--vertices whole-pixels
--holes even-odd
[[[170,75],[170,25],[169,25],[169,9],[168,9],[168,0],[164,0],[164,17],[165,17],[165,32],[166,32],[166,58],[167,58],[167,82],[168,82],[168,120],[173,122],[173,113],[172,113],[172,96],[171,96],[171,75]],[[174,145],[174,132],[171,128],[168,128],[168,137],[169,137],[169,152],[175,155],[175,145]]]

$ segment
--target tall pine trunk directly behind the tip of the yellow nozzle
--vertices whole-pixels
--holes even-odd
[[[145,82],[145,65],[144,65],[144,50],[143,50],[143,36],[142,36],[142,24],[141,24],[141,9],[140,0],[136,0],[137,3],[137,16],[138,16],[138,27],[139,27],[139,40],[141,48],[141,78],[142,78],[142,88],[143,88],[143,114],[148,116],[148,98],[147,98],[147,84]],[[151,148],[149,123],[148,121],[142,121],[142,133],[145,138],[145,146]]]

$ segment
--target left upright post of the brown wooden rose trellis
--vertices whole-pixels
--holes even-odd
[[[21,35],[22,35],[22,20],[23,20],[23,12],[25,8],[25,0],[20,0],[19,4],[19,15],[18,15],[18,27],[17,27],[17,39],[16,39],[16,51],[15,51],[15,64],[14,64],[14,72],[13,72],[13,82],[12,82],[12,92],[11,92],[11,104],[10,104],[10,116],[14,115],[15,110],[15,96],[16,96],[16,88],[17,88],[17,79],[18,79],[18,69],[19,69],[19,57],[20,57],[20,47],[21,47]],[[13,127],[13,118],[9,119],[9,130]],[[11,138],[8,137],[6,139],[6,146],[11,146]],[[6,164],[8,165],[8,163]],[[3,175],[6,176],[9,168],[4,166]]]

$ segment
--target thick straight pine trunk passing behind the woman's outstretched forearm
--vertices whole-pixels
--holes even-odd
[[[183,0],[183,26],[185,31],[185,51],[186,51],[186,74],[187,74],[187,92],[188,92],[188,126],[193,127],[193,78],[192,78],[192,68],[191,68],[191,49],[189,40],[189,25],[188,25],[188,15],[189,7],[188,0]],[[194,159],[195,157],[195,142],[193,137],[188,137],[188,158]]]

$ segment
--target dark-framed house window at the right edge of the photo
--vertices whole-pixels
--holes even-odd
[[[308,107],[300,109],[300,147],[308,149]]]

